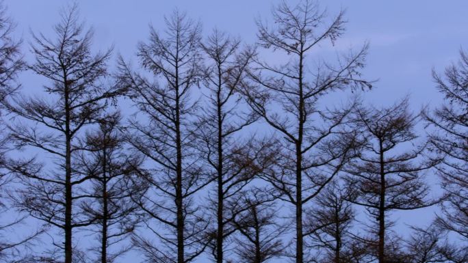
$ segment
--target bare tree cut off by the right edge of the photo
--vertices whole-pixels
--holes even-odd
[[[443,189],[449,194],[443,204],[439,225],[468,242],[468,55],[445,70],[445,77],[433,72],[445,104],[434,112],[424,112],[436,130],[430,135],[432,150],[443,156],[437,165]],[[464,248],[468,250],[468,245]]]

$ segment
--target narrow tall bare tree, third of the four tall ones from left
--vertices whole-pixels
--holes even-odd
[[[239,40],[217,29],[201,47],[209,63],[204,81],[207,103],[201,110],[200,128],[195,132],[202,156],[211,167],[210,177],[216,183],[214,197],[209,195],[208,209],[213,210],[216,217],[216,227],[210,227],[216,238],[210,247],[213,258],[222,263],[224,240],[235,231],[231,221],[242,209],[235,201],[239,200],[244,186],[268,163],[270,143],[243,139],[238,133],[258,119],[243,107],[239,96],[239,85],[250,62],[249,53],[240,51]]]

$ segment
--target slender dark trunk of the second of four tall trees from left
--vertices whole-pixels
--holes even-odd
[[[177,50],[179,50],[179,33],[177,33]],[[176,206],[177,206],[177,263],[185,263],[184,243],[183,243],[183,197],[182,197],[182,142],[181,142],[181,109],[179,101],[179,51],[176,54],[175,62],[175,132],[176,132]]]

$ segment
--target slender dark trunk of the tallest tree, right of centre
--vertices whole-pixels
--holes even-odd
[[[302,233],[302,133],[304,132],[304,97],[302,90],[302,54],[299,58],[299,126],[296,141],[296,263],[304,262]]]

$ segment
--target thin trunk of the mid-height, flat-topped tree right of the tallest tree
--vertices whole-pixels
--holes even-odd
[[[385,263],[385,171],[382,141],[380,146],[380,204],[378,210],[378,262]]]

